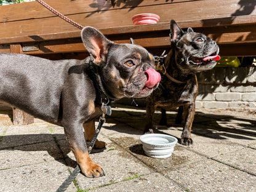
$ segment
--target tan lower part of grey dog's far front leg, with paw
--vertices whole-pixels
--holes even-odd
[[[95,134],[95,121],[92,120],[92,121],[86,122],[82,125],[82,127],[84,127],[84,135],[86,137],[86,141],[91,142]],[[96,139],[94,144],[95,148],[102,149],[102,148],[105,148],[105,146],[106,146],[105,142],[100,142],[98,139]]]

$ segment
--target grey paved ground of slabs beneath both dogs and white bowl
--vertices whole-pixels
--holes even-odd
[[[76,186],[71,183],[67,191],[256,191],[256,118],[242,118],[242,112],[237,116],[234,111],[197,112],[194,144],[177,144],[170,158],[154,159],[145,156],[139,140],[145,110],[119,110],[106,119],[99,135],[108,143],[106,150],[90,154],[106,176],[79,174]],[[155,123],[161,118],[156,112]],[[170,124],[175,113],[167,113]],[[156,126],[155,132],[180,138],[182,125]],[[30,126],[0,126],[0,156],[4,192],[55,191],[68,177],[68,169],[76,166],[63,127],[38,119]]]

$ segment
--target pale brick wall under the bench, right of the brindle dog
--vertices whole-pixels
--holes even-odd
[[[256,67],[216,67],[197,77],[196,108],[256,109]]]

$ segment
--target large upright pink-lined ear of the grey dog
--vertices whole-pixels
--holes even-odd
[[[113,42],[91,26],[86,26],[82,29],[81,37],[84,47],[94,58],[94,63],[105,62],[105,55],[108,54],[108,48]]]

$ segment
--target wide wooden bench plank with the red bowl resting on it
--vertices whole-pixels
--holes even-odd
[[[212,6],[213,2],[215,6]],[[180,11],[181,7],[182,11]],[[225,7],[225,11],[223,11],[223,7]],[[204,20],[211,18],[230,17],[230,15],[236,14],[240,8],[239,0],[187,1],[174,4],[159,4],[157,6],[135,7],[132,10],[116,9],[99,11],[90,17],[87,17],[88,15],[84,13],[69,15],[69,17],[83,26],[89,25],[99,29],[106,29],[132,26],[132,16],[142,12],[152,12],[160,15],[159,23],[169,22],[170,19],[174,19],[177,22],[190,20],[201,20],[204,22]],[[255,15],[256,10],[241,12],[238,15],[242,14]],[[233,20],[231,19],[230,23],[232,22]],[[0,28],[2,29],[0,33],[2,38],[79,31],[58,17],[19,20],[17,22],[9,22],[8,25],[6,23],[0,23]]]

